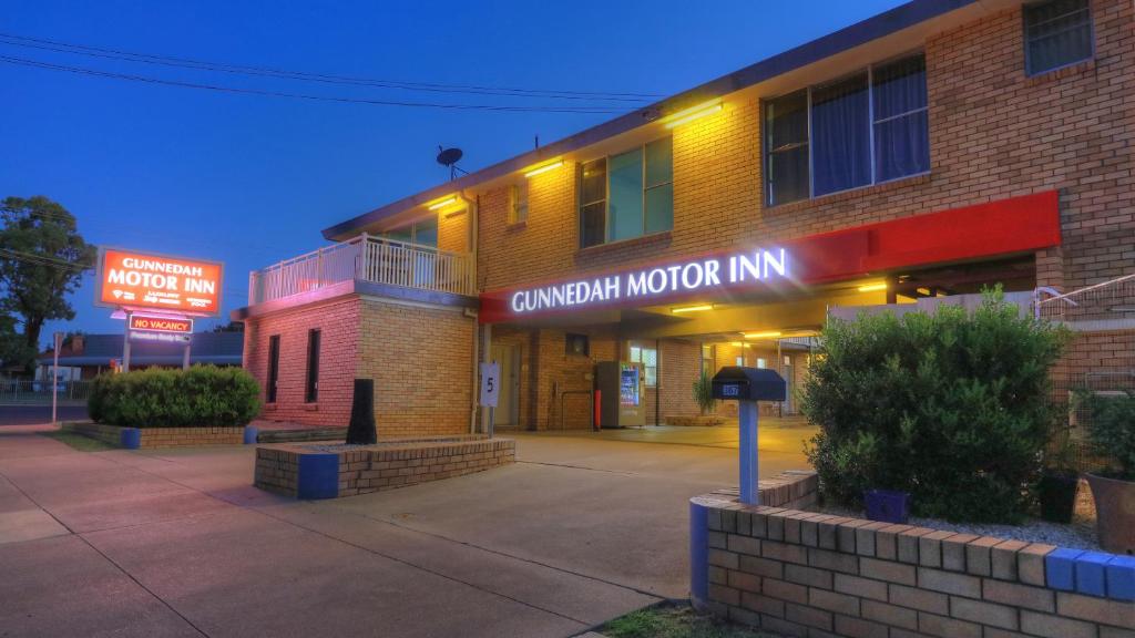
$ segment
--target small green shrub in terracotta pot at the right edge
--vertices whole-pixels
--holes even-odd
[[[1108,476],[1135,480],[1135,392],[1108,396],[1078,391],[1076,400],[1087,411],[1092,451],[1113,461]]]

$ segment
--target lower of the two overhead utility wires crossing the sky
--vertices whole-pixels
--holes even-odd
[[[484,111],[510,111],[510,112],[561,112],[561,114],[624,114],[629,112],[629,109],[620,109],[613,107],[560,107],[560,106],[510,106],[510,104],[447,104],[439,102],[407,102],[401,100],[370,100],[363,98],[344,98],[335,95],[312,95],[309,93],[289,93],[286,91],[266,91],[261,89],[241,89],[235,86],[220,86],[216,84],[197,84],[194,82],[182,82],[177,79],[162,79],[158,77],[149,77],[142,75],[129,75],[123,73],[112,73],[104,70],[96,70],[83,67],[73,67],[67,65],[54,65],[51,62],[44,62],[41,60],[32,60],[27,58],[16,58],[10,56],[0,56],[0,62],[7,62],[10,65],[25,66],[32,68],[41,68],[49,70],[59,70],[74,73],[77,75],[90,75],[95,77],[108,77],[115,79],[128,79],[132,82],[142,82],[149,84],[163,84],[167,86],[180,86],[184,89],[201,89],[208,91],[219,91],[222,93],[238,93],[246,95],[262,95],[269,98],[292,98],[297,100],[313,100],[322,102],[343,102],[343,103],[355,103],[355,104],[372,104],[381,107],[417,107],[417,108],[431,108],[431,109],[446,109],[446,110],[484,110]]]

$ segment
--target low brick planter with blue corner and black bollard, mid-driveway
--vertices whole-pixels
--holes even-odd
[[[516,443],[507,438],[388,440],[334,452],[261,445],[254,485],[297,498],[338,498],[480,472],[515,459]]]

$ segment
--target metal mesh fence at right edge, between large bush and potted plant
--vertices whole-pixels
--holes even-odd
[[[1108,460],[1088,448],[1085,440],[1088,415],[1077,409],[1074,395],[1135,392],[1135,275],[1066,294],[1037,288],[1033,312],[1039,319],[1073,331],[1063,356],[1051,371],[1054,400],[1067,411],[1077,467],[1100,469]]]

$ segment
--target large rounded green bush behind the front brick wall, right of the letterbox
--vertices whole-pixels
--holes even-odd
[[[1049,368],[1067,333],[1022,317],[1000,289],[972,313],[832,320],[801,408],[825,497],[908,492],[918,515],[1019,522],[1058,411]]]

